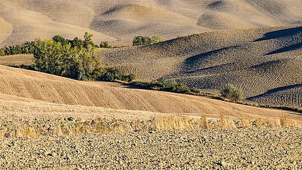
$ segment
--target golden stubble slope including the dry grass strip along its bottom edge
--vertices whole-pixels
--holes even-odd
[[[78,122],[80,131],[77,133],[86,125],[90,132],[97,131],[96,122],[106,124],[105,131],[110,130],[112,120],[120,121],[121,127],[118,128],[122,131],[139,129],[140,126],[141,129],[146,126],[146,129],[168,130],[201,126],[302,125],[302,117],[288,111],[255,108],[198,96],[114,87],[117,83],[78,81],[7,66],[0,66],[0,80],[3,136],[23,136],[23,133],[14,131],[21,126],[32,128],[35,135],[56,134],[56,128],[62,124],[69,124],[70,128],[59,133],[75,133],[77,127],[74,127],[73,121]],[[69,117],[73,121],[65,120]],[[133,125],[133,121],[138,121],[138,127]],[[174,125],[169,125],[169,121]],[[46,131],[45,122],[49,122],[47,124],[53,129]]]

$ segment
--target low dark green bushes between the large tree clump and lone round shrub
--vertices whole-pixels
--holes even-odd
[[[199,94],[200,91],[197,89],[190,89],[184,84],[171,81],[166,78],[159,78],[153,82],[132,82],[133,86],[140,87],[146,90],[156,90],[156,91],[165,91],[173,92],[180,94]]]

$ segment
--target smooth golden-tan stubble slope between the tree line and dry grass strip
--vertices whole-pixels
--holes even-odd
[[[254,108],[196,96],[100,86],[46,73],[0,66],[0,103],[3,117],[9,115],[82,115],[150,117],[155,115],[223,114],[234,118],[278,120],[284,111]],[[173,101],[173,102],[171,102]],[[128,116],[126,116],[128,115]]]

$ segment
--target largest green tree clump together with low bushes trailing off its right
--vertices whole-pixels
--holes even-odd
[[[38,40],[33,50],[34,69],[59,76],[84,80],[132,81],[135,76],[118,69],[100,67],[99,51],[92,42],[92,34],[85,40],[54,36],[52,40]]]

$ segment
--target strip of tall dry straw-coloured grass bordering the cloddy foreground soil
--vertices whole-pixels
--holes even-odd
[[[275,120],[275,121],[273,121]],[[32,122],[29,120],[15,120],[14,125],[0,127],[0,138],[38,137],[51,135],[133,132],[149,130],[193,130],[193,129],[234,129],[250,127],[298,127],[297,122],[282,116],[280,119],[247,119],[240,120],[219,115],[218,117],[192,118],[188,116],[157,116],[149,120],[120,120],[97,119],[92,121],[81,120],[50,120]]]

